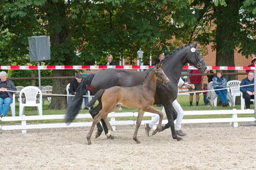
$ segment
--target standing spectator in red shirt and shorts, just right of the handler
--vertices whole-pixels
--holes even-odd
[[[189,73],[202,73],[200,72],[200,70],[191,70]],[[194,89],[195,90],[201,90],[201,75],[191,75],[189,76],[189,84],[194,84]],[[199,97],[200,93],[196,93],[196,106],[198,106],[200,97]],[[189,103],[190,103],[190,107],[192,107],[192,103],[193,103],[193,96],[194,93],[189,93]]]

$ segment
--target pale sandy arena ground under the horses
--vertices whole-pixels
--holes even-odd
[[[170,130],[147,137],[144,126],[119,126],[114,140],[92,138],[89,128],[3,131],[0,169],[256,169],[256,127],[183,125],[183,141]]]

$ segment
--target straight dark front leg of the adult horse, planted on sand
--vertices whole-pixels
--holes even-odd
[[[164,105],[164,109],[166,110],[166,116],[167,116],[167,120],[168,123],[171,127],[171,135],[173,136],[173,139],[177,139],[177,141],[181,141],[182,138],[178,137],[178,135],[175,132],[175,123],[173,121],[173,102],[166,102],[163,104]]]

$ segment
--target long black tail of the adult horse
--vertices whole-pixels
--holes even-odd
[[[76,95],[74,96],[72,102],[67,105],[67,111],[65,113],[65,122],[67,124],[71,123],[80,111],[81,104],[83,102],[83,95],[85,95],[87,91],[87,84],[90,84],[90,82],[92,82],[93,77],[94,73],[91,73],[87,75],[87,77],[82,79],[81,83],[78,86],[78,89],[76,89]]]

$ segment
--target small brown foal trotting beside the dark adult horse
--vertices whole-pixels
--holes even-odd
[[[164,114],[162,113],[162,111],[159,111],[158,109],[153,107],[153,104],[155,102],[155,90],[157,87],[157,81],[162,82],[162,84],[169,84],[170,81],[162,68],[160,68],[161,65],[162,64],[159,63],[154,68],[150,68],[146,79],[139,86],[114,86],[108,89],[100,89],[94,95],[89,104],[87,104],[87,107],[92,107],[96,100],[100,98],[102,109],[99,111],[97,116],[94,117],[94,121],[92,122],[92,126],[90,127],[89,134],[87,135],[88,144],[91,144],[90,137],[92,136],[95,125],[99,123],[101,119],[105,121],[108,127],[107,137],[111,135],[111,131],[113,129],[108,121],[107,115],[109,112],[113,112],[116,109],[119,109],[119,107],[121,107],[122,105],[130,108],[139,109],[136,128],[133,134],[133,140],[137,143],[141,143],[137,139],[137,134],[145,111],[157,113],[160,116],[157,129],[153,132],[153,134],[156,134],[157,132],[160,132],[160,130],[162,130],[162,118],[164,118]]]

